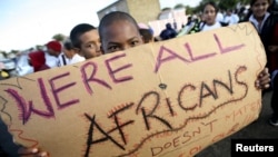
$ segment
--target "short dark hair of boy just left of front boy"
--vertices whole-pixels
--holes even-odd
[[[72,30],[70,31],[70,40],[72,45],[76,48],[81,48],[81,41],[79,37],[83,35],[85,32],[93,30],[93,29],[97,29],[97,28],[89,23],[80,23],[73,27]]]

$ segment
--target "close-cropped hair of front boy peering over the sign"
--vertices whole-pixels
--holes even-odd
[[[110,12],[110,13],[106,14],[100,20],[100,23],[99,23],[99,37],[100,37],[100,40],[102,40],[103,29],[107,26],[110,26],[116,21],[125,21],[125,20],[131,22],[132,24],[135,24],[135,27],[138,29],[138,33],[140,33],[137,21],[129,13],[122,12],[122,11],[113,11],[113,12]]]

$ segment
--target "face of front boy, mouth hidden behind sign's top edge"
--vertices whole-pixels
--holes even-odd
[[[138,28],[127,20],[106,26],[101,33],[101,48],[105,53],[126,50],[143,43]]]

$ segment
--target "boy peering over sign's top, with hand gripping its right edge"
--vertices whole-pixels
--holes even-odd
[[[100,21],[99,33],[103,53],[143,45],[136,20],[125,12],[117,11],[105,16]],[[255,86],[258,89],[266,89],[269,87],[269,81],[268,69],[264,69],[257,77]]]

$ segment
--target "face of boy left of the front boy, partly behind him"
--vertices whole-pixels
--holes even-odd
[[[81,49],[79,50],[80,56],[90,59],[101,55],[97,29],[85,32],[79,37],[79,40],[81,41]]]

